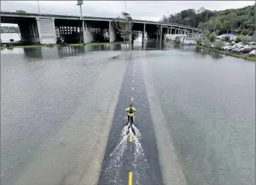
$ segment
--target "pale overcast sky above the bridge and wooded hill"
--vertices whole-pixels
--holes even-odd
[[[93,17],[117,17],[121,12],[131,14],[133,19],[158,21],[167,15],[181,12],[184,9],[210,10],[236,9],[253,5],[255,1],[84,1],[82,14]],[[79,15],[80,7],[77,1],[39,1],[40,12],[43,14]],[[25,12],[38,13],[38,1],[1,1],[1,12],[15,12],[22,9]],[[2,26],[8,24],[1,24]]]

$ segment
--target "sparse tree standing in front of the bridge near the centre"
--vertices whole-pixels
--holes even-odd
[[[118,30],[124,42],[127,43],[130,36],[132,36],[132,17],[127,12],[121,12],[122,17],[117,17],[111,23]]]

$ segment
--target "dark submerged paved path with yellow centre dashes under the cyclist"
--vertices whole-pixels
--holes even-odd
[[[99,185],[129,184],[131,181],[133,184],[141,185],[163,184],[155,131],[143,81],[142,63],[134,60],[134,57],[134,53],[131,53],[124,74],[98,181]],[[121,136],[126,116],[124,109],[129,106],[130,102],[137,109],[135,122],[140,131],[140,140],[137,140],[135,135],[136,140],[132,143],[127,140],[129,137]],[[116,148],[118,151],[114,153]],[[133,174],[132,180],[129,173]]]

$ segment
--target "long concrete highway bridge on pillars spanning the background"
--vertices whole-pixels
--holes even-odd
[[[78,17],[54,14],[17,14],[1,12],[1,23],[18,24],[22,41],[40,44],[56,43],[56,37],[66,37],[68,42],[114,42],[121,41],[119,33],[111,24],[113,18]],[[132,20],[132,30],[142,32],[148,38],[163,40],[166,34],[200,35],[202,30],[182,24],[166,24]]]

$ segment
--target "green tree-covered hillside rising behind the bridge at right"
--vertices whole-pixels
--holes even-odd
[[[255,5],[218,12],[203,7],[197,11],[187,9],[167,17],[163,16],[161,22],[198,27],[207,33],[216,32],[217,35],[224,33],[253,35],[255,32]]]

